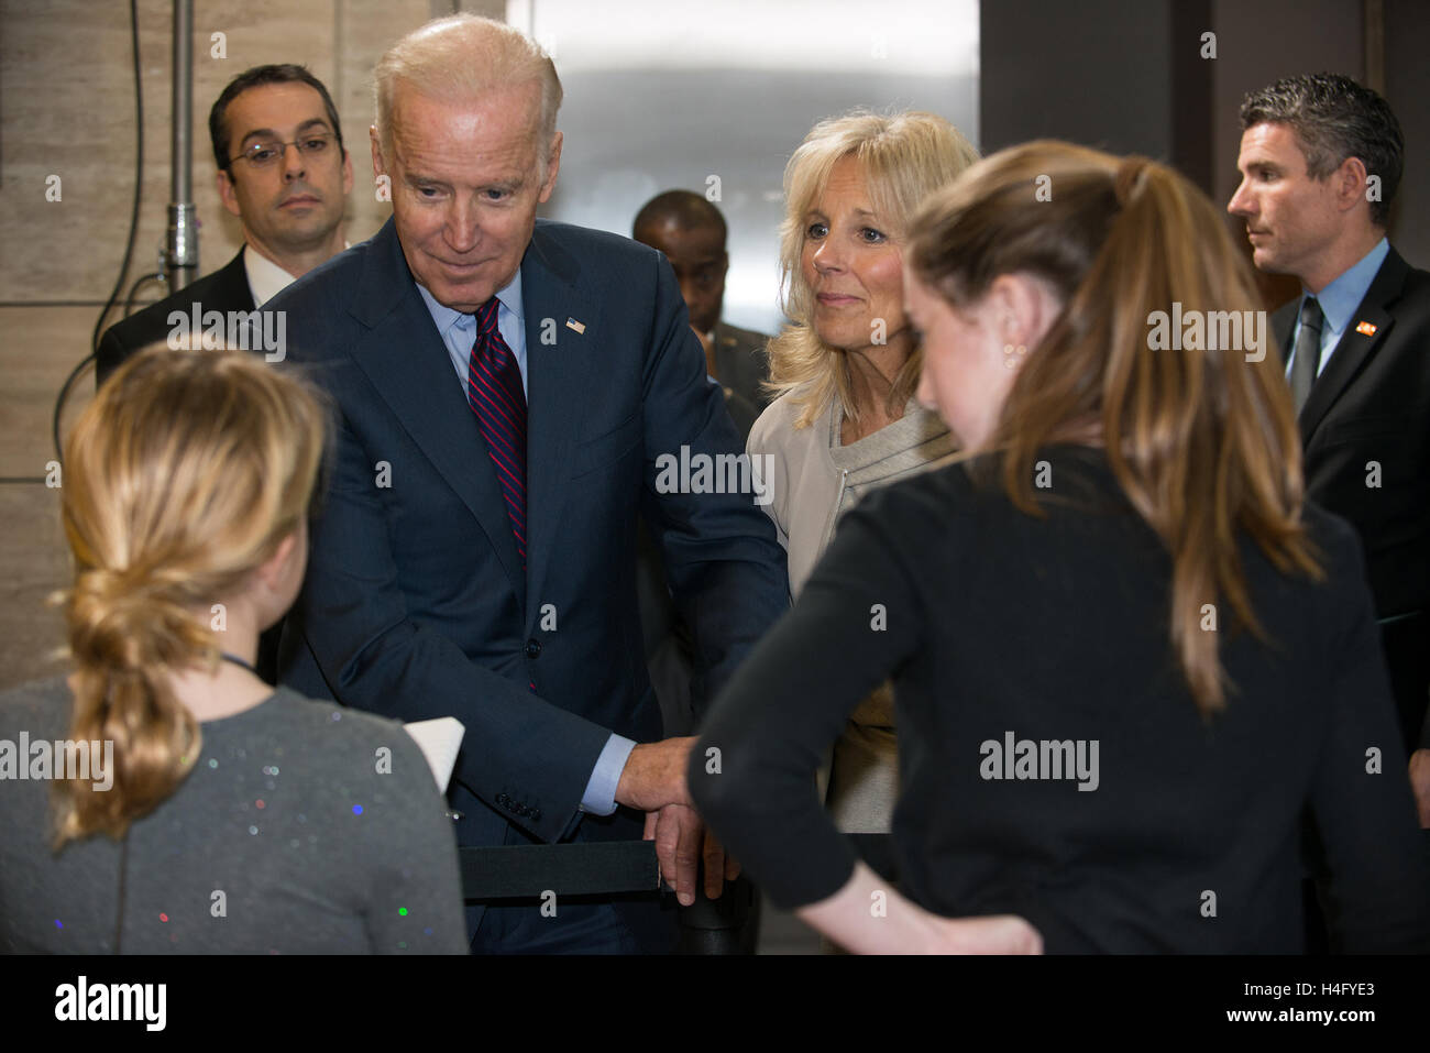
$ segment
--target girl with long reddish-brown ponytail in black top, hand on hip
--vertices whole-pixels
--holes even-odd
[[[1333,946],[1426,950],[1360,542],[1303,499],[1218,210],[1147,159],[1037,142],[911,229],[918,398],[970,456],[852,511],[729,682],[692,751],[719,774],[689,773],[711,827],[852,950],[1297,953],[1310,817]],[[805,788],[888,675],[899,891]]]

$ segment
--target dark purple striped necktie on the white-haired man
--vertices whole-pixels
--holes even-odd
[[[526,395],[516,356],[496,328],[493,296],[476,312],[476,342],[466,366],[466,401],[476,413],[496,481],[506,498],[516,549],[526,562]]]

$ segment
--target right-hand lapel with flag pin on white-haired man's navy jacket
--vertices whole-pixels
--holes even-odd
[[[532,595],[541,595],[555,554],[569,489],[571,456],[596,379],[593,365],[601,339],[601,309],[576,286],[578,273],[575,258],[538,222],[522,258],[526,564]],[[575,326],[568,326],[568,320]]]

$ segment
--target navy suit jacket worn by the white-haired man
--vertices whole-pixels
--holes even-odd
[[[655,492],[662,454],[741,451],[665,258],[538,220],[521,273],[525,568],[393,223],[269,305],[289,312],[289,362],[337,408],[282,678],[403,721],[460,720],[459,844],[639,840],[639,813],[578,810],[612,731],[662,737],[636,612],[638,514],[694,630],[702,704],[785,609],[784,552],[748,494]],[[669,949],[652,904],[618,908],[646,949]]]

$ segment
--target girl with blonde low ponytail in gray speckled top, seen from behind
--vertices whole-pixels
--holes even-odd
[[[72,672],[0,697],[0,951],[465,949],[416,744],[252,668],[302,585],[323,435],[242,352],[139,355],[84,411]]]

